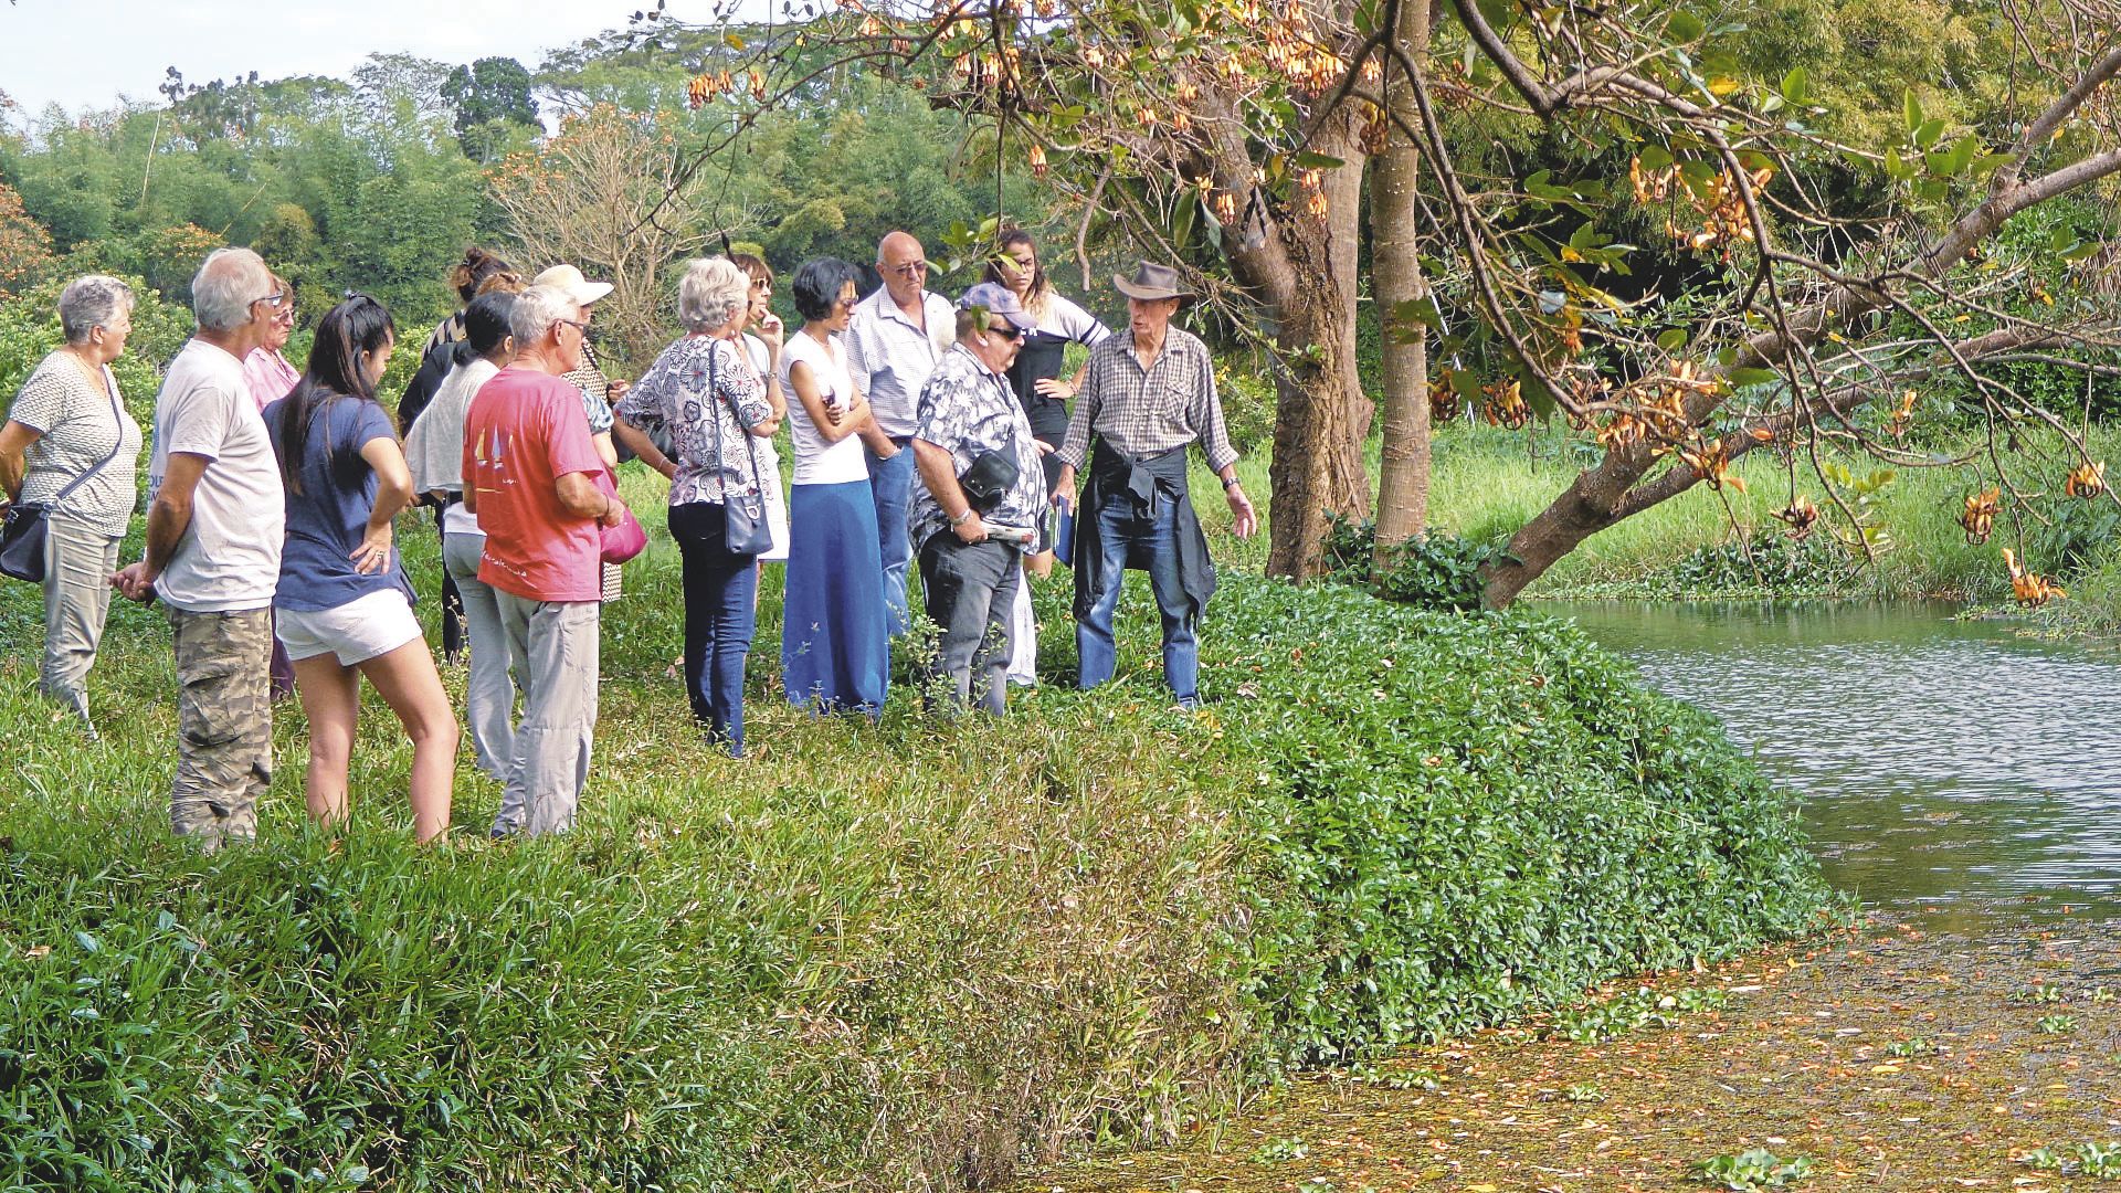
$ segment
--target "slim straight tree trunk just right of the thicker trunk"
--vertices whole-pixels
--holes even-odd
[[[1400,0],[1393,40],[1413,62],[1430,49],[1427,0]],[[1427,327],[1393,318],[1393,310],[1427,293],[1417,244],[1421,151],[1406,127],[1421,115],[1413,87],[1398,66],[1385,68],[1385,102],[1398,117],[1385,125],[1385,149],[1370,172],[1370,276],[1383,327],[1385,444],[1377,482],[1377,565],[1389,548],[1419,535],[1430,522],[1430,342]]]

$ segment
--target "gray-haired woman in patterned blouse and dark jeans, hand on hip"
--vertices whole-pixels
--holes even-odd
[[[751,318],[749,274],[721,257],[694,261],[679,282],[679,318],[685,338],[626,395],[613,429],[670,478],[670,537],[685,582],[685,698],[708,741],[742,758],[744,660],[759,584],[753,563],[766,550],[744,531],[766,531],[761,490],[781,482],[764,476],[755,442],[781,427],[787,405],[740,342]],[[643,431],[658,420],[677,459]]]

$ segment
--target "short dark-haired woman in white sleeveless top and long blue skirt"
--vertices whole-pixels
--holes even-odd
[[[789,287],[804,327],[781,348],[795,442],[781,671],[793,705],[876,715],[891,677],[891,635],[876,501],[857,437],[870,425],[870,403],[838,342],[855,310],[855,276],[846,261],[821,257],[804,261]]]

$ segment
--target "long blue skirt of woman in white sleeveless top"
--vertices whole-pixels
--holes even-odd
[[[891,633],[867,480],[789,490],[781,675],[797,707],[870,715],[884,707]]]

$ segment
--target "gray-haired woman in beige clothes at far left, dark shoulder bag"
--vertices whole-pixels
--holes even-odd
[[[110,573],[138,488],[140,425],[125,412],[110,361],[132,333],[132,287],[89,274],[59,295],[66,346],[21,382],[0,427],[0,488],[47,505],[45,664],[40,686],[89,737],[89,669],[110,611]]]

